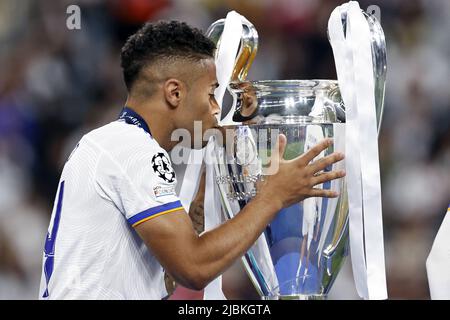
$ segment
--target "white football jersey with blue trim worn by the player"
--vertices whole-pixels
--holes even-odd
[[[134,227],[181,209],[175,186],[143,128],[122,119],[83,136],[59,182],[40,299],[164,298],[163,268]]]

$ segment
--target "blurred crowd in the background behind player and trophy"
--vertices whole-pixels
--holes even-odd
[[[205,31],[236,10],[260,36],[251,80],[335,79],[326,26],[343,2],[0,0],[0,299],[37,298],[61,169],[83,134],[119,113],[120,48],[142,23]],[[66,27],[71,4],[80,30]],[[450,202],[450,1],[360,5],[379,6],[388,44],[379,145],[389,297],[429,299],[425,260]],[[224,283],[230,299],[257,298],[239,263]],[[348,263],[331,297],[357,298]]]

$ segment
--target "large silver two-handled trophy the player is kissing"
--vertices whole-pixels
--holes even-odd
[[[378,125],[381,122],[386,46],[373,16],[371,26]],[[224,20],[207,34],[218,43]],[[258,34],[243,20],[243,34],[229,85],[234,98],[233,121],[225,139],[216,141],[216,182],[223,212],[232,218],[257,194],[271,174],[271,152],[279,134],[287,138],[285,159],[293,159],[324,138],[345,141],[345,106],[335,80],[245,81],[256,55]],[[378,126],[379,127],[379,126]],[[325,171],[339,170],[338,163]],[[295,183],[295,181],[292,181]],[[262,299],[325,299],[348,255],[348,200],[345,179],[316,186],[338,191],[334,199],[308,198],[282,209],[243,256],[245,269]]]

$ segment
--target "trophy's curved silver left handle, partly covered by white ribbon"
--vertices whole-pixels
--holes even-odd
[[[253,24],[245,17],[241,16],[242,20],[242,35],[239,51],[234,62],[233,73],[230,82],[244,81],[247,78],[248,71],[255,59],[258,51],[258,32]],[[206,36],[210,38],[218,48],[220,46],[220,39],[225,27],[225,19],[220,19],[211,24],[206,31]],[[216,55],[218,50],[216,50]],[[215,57],[217,58],[217,56]]]

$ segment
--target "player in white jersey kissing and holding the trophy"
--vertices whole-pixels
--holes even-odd
[[[217,127],[214,43],[176,21],[147,23],[122,48],[128,99],[117,121],[80,140],[67,160],[44,247],[42,299],[163,299],[164,272],[200,290],[241,257],[282,208],[344,172],[315,173],[325,140],[276,174],[233,219],[199,235],[175,193],[168,151],[176,129]],[[206,144],[206,142],[204,142]],[[279,154],[286,137],[280,135]],[[295,183],[293,183],[295,181]]]

